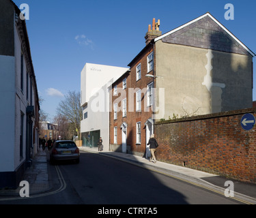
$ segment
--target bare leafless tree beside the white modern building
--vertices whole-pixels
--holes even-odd
[[[80,122],[82,119],[82,108],[80,105],[80,92],[68,91],[65,99],[59,102],[57,114],[65,116],[72,125],[72,130],[77,131],[80,139]]]

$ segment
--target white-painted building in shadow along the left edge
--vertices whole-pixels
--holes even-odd
[[[40,106],[25,20],[10,0],[1,0],[0,187],[17,187],[38,152]]]

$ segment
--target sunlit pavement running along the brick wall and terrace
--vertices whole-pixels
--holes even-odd
[[[225,182],[233,181],[234,197],[249,203],[256,204],[256,184],[243,183],[240,181],[233,180],[231,178],[224,178],[223,176],[218,176],[216,174],[210,174],[208,172],[201,172],[199,170],[193,170],[193,169],[182,167],[182,166],[176,166],[171,163],[165,163],[162,161],[157,161],[156,163],[152,163],[148,159],[145,159],[144,157],[130,155],[127,153],[119,153],[119,152],[111,152],[111,151],[100,152],[98,151],[98,148],[88,148],[88,147],[79,147],[79,149],[81,151],[98,153],[100,155],[105,155],[108,157],[112,157],[115,159],[126,161],[128,163],[135,164],[137,166],[141,166],[143,168],[147,168],[148,170],[153,170],[155,172],[167,174],[168,176],[172,176],[182,181],[192,183],[193,185],[197,185],[199,187],[210,189],[211,191],[215,191],[223,195],[225,193],[225,189],[229,187],[229,186],[225,187]]]

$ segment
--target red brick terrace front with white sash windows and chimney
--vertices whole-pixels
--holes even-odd
[[[146,146],[154,133],[154,44],[150,42],[161,35],[159,25],[159,20],[153,20],[153,28],[150,25],[145,35],[145,48],[128,64],[130,72],[112,84],[111,151],[150,157]]]

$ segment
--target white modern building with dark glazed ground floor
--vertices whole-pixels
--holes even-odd
[[[129,68],[86,63],[81,72],[81,140],[83,146],[97,147],[102,137],[103,151],[109,151],[109,90],[113,81]]]

